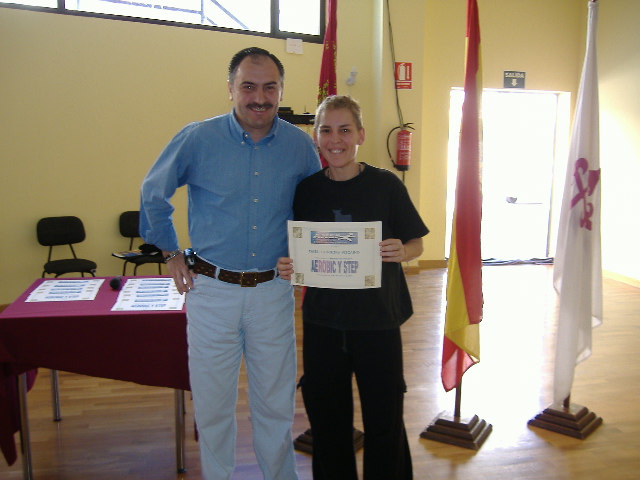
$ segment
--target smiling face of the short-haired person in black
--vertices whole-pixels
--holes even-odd
[[[356,161],[364,142],[364,128],[358,129],[349,109],[325,110],[313,138],[330,167],[341,168]]]

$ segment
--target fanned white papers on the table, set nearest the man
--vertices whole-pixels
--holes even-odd
[[[173,278],[128,278],[111,311],[182,310],[183,305]]]

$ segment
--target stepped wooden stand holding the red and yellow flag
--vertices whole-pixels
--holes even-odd
[[[479,450],[493,427],[490,423],[478,418],[477,415],[462,418],[460,416],[461,399],[462,382],[456,387],[456,405],[453,415],[440,412],[433,419],[431,425],[423,430],[420,437],[471,450]]]

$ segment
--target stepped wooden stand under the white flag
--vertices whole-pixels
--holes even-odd
[[[562,404],[554,403],[528,422],[529,425],[584,440],[602,425],[602,418],[587,407],[571,403],[571,395]]]

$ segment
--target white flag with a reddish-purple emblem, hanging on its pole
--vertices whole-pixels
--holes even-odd
[[[553,272],[559,295],[556,403],[570,395],[575,366],[591,355],[591,330],[602,322],[597,21],[598,2],[590,0]]]

